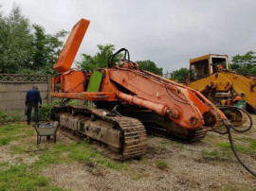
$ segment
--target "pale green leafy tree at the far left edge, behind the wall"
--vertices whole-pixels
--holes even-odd
[[[1,13],[0,13],[1,14]],[[29,21],[13,6],[9,17],[0,15],[0,73],[16,73],[25,68],[31,55]]]

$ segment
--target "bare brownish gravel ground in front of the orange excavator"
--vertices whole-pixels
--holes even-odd
[[[253,115],[255,121],[256,115]],[[234,133],[235,140],[255,140],[256,126],[246,133]],[[239,140],[238,140],[239,141]],[[114,170],[92,163],[50,165],[44,171],[52,183],[72,190],[256,190],[256,179],[239,165],[234,156],[207,157],[221,151],[218,143],[228,143],[228,135],[210,131],[196,144],[182,144],[148,136],[148,149],[141,160],[123,162],[128,169]],[[237,142],[236,142],[237,143]],[[239,144],[246,146],[246,142]],[[255,142],[254,142],[255,143]],[[240,153],[256,170],[256,148]],[[159,166],[159,164],[164,164]]]

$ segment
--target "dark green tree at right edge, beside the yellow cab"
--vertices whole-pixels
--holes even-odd
[[[235,55],[232,57],[231,69],[240,73],[256,75],[255,52],[248,51],[245,55]]]

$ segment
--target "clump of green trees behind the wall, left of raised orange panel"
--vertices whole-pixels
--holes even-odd
[[[66,33],[61,30],[49,35],[43,26],[31,27],[15,5],[8,17],[0,12],[0,73],[53,75],[53,64],[63,45],[60,38]]]

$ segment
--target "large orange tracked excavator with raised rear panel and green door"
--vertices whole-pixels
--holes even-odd
[[[143,155],[148,131],[188,142],[200,141],[207,127],[231,127],[205,96],[187,86],[140,70],[121,48],[107,67],[93,72],[70,70],[89,21],[76,24],[54,64],[51,96],[63,98],[52,119],[65,129],[106,145],[120,160]],[[117,59],[122,53],[123,58]],[[93,101],[97,108],[65,106],[69,99]]]

